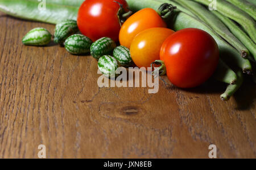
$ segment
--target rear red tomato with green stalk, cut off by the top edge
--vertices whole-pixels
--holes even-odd
[[[115,2],[116,1],[116,2]],[[82,34],[93,41],[104,36],[118,42],[121,23],[118,17],[119,2],[123,13],[128,12],[125,0],[86,0],[80,6],[77,15],[77,26]],[[122,15],[122,14],[120,14]]]

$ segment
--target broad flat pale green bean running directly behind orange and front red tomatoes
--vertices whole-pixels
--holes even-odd
[[[151,7],[152,9],[158,10],[158,7],[162,5],[163,1],[153,1],[153,0],[126,0],[129,4],[129,8],[132,11],[138,11],[146,7]],[[167,1],[166,2],[170,2]],[[237,52],[231,45],[225,42],[220,36],[216,34],[210,27],[208,27],[205,23],[201,22],[199,19],[183,13],[179,10],[174,10],[172,17],[169,19],[171,23],[171,28],[175,31],[181,30],[183,28],[199,28],[208,32],[213,38],[216,40],[218,44],[218,48],[220,51],[220,56],[225,63],[233,63],[240,67],[244,73],[251,74],[251,64],[247,59],[243,59],[240,56],[240,53]]]

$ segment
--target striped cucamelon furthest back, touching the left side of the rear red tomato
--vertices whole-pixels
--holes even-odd
[[[54,42],[63,45],[65,40],[79,31],[76,20],[66,19],[56,24]]]

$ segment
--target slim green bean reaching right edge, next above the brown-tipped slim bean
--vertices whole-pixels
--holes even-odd
[[[256,60],[256,44],[249,38],[249,36],[247,36],[247,34],[228,17],[218,13],[218,11],[212,11],[212,13],[226,24],[229,30],[249,49],[254,60]]]

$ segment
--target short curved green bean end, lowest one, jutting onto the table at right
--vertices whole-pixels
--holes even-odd
[[[231,96],[233,96],[234,93],[237,92],[237,90],[241,87],[243,82],[243,74],[241,71],[237,71],[237,83],[234,85],[228,85],[226,88],[226,91],[221,94],[222,101],[228,101]]]

